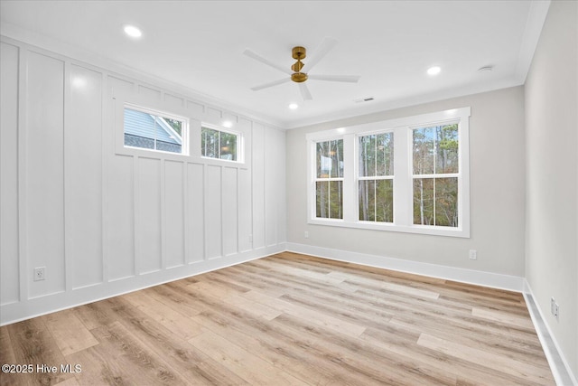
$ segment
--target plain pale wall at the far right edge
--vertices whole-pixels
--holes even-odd
[[[554,1],[525,85],[526,277],[578,376],[578,3]],[[550,314],[550,297],[560,306]]]

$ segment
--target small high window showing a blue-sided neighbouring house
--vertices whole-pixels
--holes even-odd
[[[125,107],[125,146],[186,154],[188,125],[172,117],[137,107]]]

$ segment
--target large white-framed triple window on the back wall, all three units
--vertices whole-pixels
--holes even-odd
[[[308,221],[470,237],[470,108],[309,133]]]

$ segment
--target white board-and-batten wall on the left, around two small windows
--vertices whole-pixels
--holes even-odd
[[[1,49],[2,324],[285,249],[283,131],[22,42]],[[190,118],[193,137],[232,120],[247,162],[123,150],[129,100]]]

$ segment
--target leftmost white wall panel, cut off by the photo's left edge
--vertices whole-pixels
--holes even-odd
[[[18,47],[0,45],[0,305],[20,300],[18,245]]]

